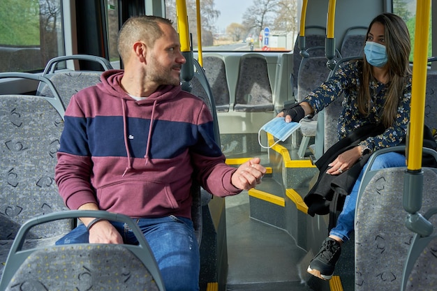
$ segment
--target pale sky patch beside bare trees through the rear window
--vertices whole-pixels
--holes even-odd
[[[220,10],[220,16],[216,20],[218,31],[223,31],[232,22],[242,23],[242,17],[246,8],[253,4],[253,0],[216,0],[215,8]]]

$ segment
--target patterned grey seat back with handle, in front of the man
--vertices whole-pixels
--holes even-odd
[[[71,244],[22,249],[33,227],[79,217],[127,223],[138,245]],[[30,231],[29,231],[30,230]],[[43,274],[43,275],[42,275]],[[17,233],[0,290],[165,290],[158,264],[138,225],[106,211],[63,211],[32,218]]]

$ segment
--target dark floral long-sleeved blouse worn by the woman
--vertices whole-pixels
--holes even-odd
[[[308,102],[317,113],[343,93],[343,110],[337,125],[339,140],[360,126],[379,124],[382,121],[380,114],[385,103],[387,86],[381,82],[372,80],[369,84],[371,92],[371,112],[369,116],[364,116],[358,110],[357,97],[360,88],[360,75],[362,74],[362,64],[360,62],[362,61],[348,62],[339,68],[327,82],[321,84],[318,89],[311,92],[303,100]],[[397,116],[392,126],[387,128],[381,135],[368,137],[360,142],[360,145],[369,147],[372,152],[398,145],[406,137],[407,124],[410,120],[410,99],[411,77],[403,89],[402,96],[399,96]]]

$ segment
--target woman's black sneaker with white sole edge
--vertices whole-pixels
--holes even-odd
[[[329,280],[332,278],[332,274],[334,274],[335,264],[339,260],[340,254],[340,243],[335,239],[327,237],[325,241],[323,241],[318,254],[309,263],[306,271],[323,280]]]

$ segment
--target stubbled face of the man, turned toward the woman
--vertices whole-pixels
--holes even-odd
[[[182,64],[181,44],[175,29],[170,25],[159,24],[163,36],[155,41],[147,54],[147,79],[158,85],[179,85]]]

